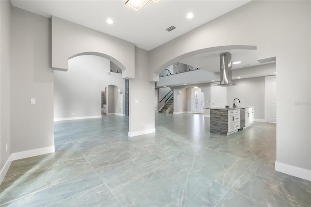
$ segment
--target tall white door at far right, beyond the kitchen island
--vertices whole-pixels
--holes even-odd
[[[264,78],[265,112],[267,122],[276,123],[276,76]]]

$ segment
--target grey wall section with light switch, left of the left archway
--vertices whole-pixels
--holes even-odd
[[[51,19],[12,7],[12,153],[54,151],[51,34]]]

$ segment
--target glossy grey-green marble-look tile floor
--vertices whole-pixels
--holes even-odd
[[[57,121],[55,153],[12,162],[1,206],[311,206],[311,182],[274,170],[276,124],[222,136],[199,114],[155,114],[128,137],[128,118]]]

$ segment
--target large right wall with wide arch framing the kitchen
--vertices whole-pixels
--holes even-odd
[[[178,58],[219,47],[256,46],[259,60],[276,57],[276,170],[311,180],[310,4],[251,1],[149,51],[150,80]]]

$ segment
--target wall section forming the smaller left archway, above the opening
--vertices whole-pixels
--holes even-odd
[[[115,63],[122,69],[122,78],[135,77],[133,43],[52,17],[52,67],[67,70],[68,59],[84,52],[99,53]]]

